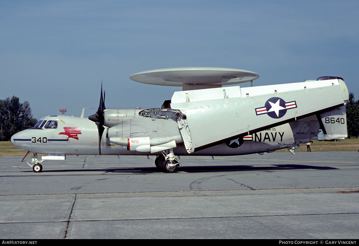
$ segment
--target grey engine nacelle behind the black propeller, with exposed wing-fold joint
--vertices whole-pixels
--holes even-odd
[[[173,109],[106,110],[107,137],[111,143],[127,146],[127,150],[158,152],[183,142],[178,119],[183,115]]]

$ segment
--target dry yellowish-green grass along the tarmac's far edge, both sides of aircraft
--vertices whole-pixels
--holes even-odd
[[[338,141],[317,141],[311,144],[312,151],[358,151],[359,138],[346,138]],[[277,150],[278,152],[288,151],[286,148]],[[307,151],[307,145],[302,144],[295,152]],[[10,141],[0,142],[0,156],[24,156],[25,150],[13,146]]]

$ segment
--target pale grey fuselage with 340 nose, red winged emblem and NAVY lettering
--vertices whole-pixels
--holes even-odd
[[[56,122],[56,128],[51,128],[49,122]],[[308,127],[308,122],[312,122]],[[196,151],[189,154],[183,143],[178,143],[174,148],[176,155],[246,155],[252,153],[272,152],[281,148],[297,146],[295,132],[303,141],[309,141],[319,129],[318,123],[308,121],[298,124],[295,131],[289,123],[257,132],[243,139],[234,139],[225,143]],[[65,155],[97,155],[98,131],[94,122],[87,118],[70,117],[65,115],[51,115],[43,117],[37,124],[38,127],[26,129],[11,137],[11,143],[23,150],[42,154]],[[303,126],[301,128],[301,126]],[[300,129],[299,129],[300,128]],[[101,155],[161,155],[160,152],[139,152],[128,150],[126,145],[118,145],[110,142],[108,127],[105,127],[101,139]],[[107,134],[106,134],[107,133]],[[209,133],[210,134],[210,133]],[[312,138],[313,139],[313,138]],[[302,142],[303,142],[302,141]],[[300,143],[297,141],[297,143]]]

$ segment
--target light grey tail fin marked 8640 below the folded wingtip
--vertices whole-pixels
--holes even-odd
[[[317,118],[327,140],[348,137],[345,106],[318,114]]]

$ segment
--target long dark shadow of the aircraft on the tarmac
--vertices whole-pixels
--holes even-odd
[[[230,165],[230,166],[182,166],[177,172],[228,172],[228,171],[279,171],[279,170],[298,170],[298,169],[317,169],[317,170],[333,170],[335,167],[328,166],[309,166],[309,165],[294,165],[294,164],[271,164],[268,167],[256,167],[250,165]],[[24,171],[32,172],[32,171]],[[43,170],[41,173],[50,174],[53,172],[104,172],[104,173],[158,173],[164,172],[157,167],[121,167],[121,168],[103,168],[103,169],[61,169],[61,170]],[[39,174],[41,174],[39,173]]]

